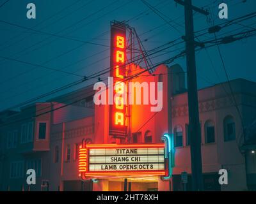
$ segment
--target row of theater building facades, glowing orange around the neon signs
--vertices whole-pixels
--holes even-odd
[[[134,73],[141,71],[138,66],[131,69]],[[93,103],[92,94],[88,94],[92,86],[26,106],[20,112],[1,112],[1,124],[8,124],[0,128],[1,191],[184,191],[181,176],[184,171],[188,173],[186,189],[191,189],[188,96],[184,71],[178,64],[171,67],[163,64],[152,73],[147,71],[138,76],[131,81],[163,82],[163,108],[159,112],[151,112],[151,104],[129,106],[127,135],[122,137],[109,134],[109,105]],[[250,134],[243,134],[241,119],[226,82],[198,90],[202,167],[207,191],[255,189],[253,121],[256,115],[256,83],[241,78],[230,83],[243,126]],[[141,91],[143,96],[143,87]],[[73,98],[78,98],[78,102],[60,108]],[[45,110],[54,111],[32,117]],[[30,119],[24,120],[29,115]],[[88,146],[135,144],[139,147],[164,144],[162,137],[165,133],[173,134],[175,147],[175,166],[170,179],[151,175],[147,170],[144,175],[99,173],[83,180],[79,176],[82,141]],[[164,166],[164,169],[168,167]],[[28,186],[26,182],[28,168],[36,170],[35,185]],[[218,182],[220,169],[228,172],[227,185]]]

